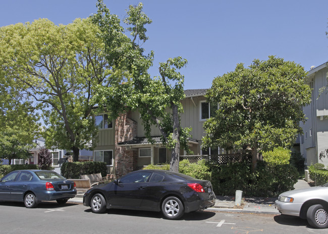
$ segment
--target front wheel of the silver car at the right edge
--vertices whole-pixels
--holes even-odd
[[[306,218],[312,227],[326,228],[328,227],[328,212],[327,208],[322,205],[316,204],[310,206],[307,210]]]

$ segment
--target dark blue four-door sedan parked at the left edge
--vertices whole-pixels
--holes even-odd
[[[27,208],[41,201],[64,204],[75,196],[75,182],[54,171],[17,170],[0,179],[0,201],[24,202]]]

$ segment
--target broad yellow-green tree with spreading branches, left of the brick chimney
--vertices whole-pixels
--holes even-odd
[[[0,29],[1,70],[22,87],[26,99],[42,106],[47,146],[72,150],[74,161],[79,149],[94,147],[94,88],[121,77],[105,60],[98,33],[90,19],[58,26],[39,19]]]

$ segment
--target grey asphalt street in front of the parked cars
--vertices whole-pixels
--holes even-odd
[[[23,203],[0,203],[0,233],[326,233],[306,220],[274,214],[198,211],[180,220],[160,212],[107,210],[94,214],[82,204],[43,202],[35,209]]]

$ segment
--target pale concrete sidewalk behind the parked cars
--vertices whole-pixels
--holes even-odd
[[[294,185],[295,189],[310,188],[304,180],[299,179]],[[70,203],[83,203],[83,195],[86,190],[79,190],[75,198],[68,200]],[[241,206],[235,206],[234,196],[216,196],[215,205],[207,210],[239,213],[259,213],[259,214],[280,214],[275,208],[275,201],[278,198],[244,197]]]

